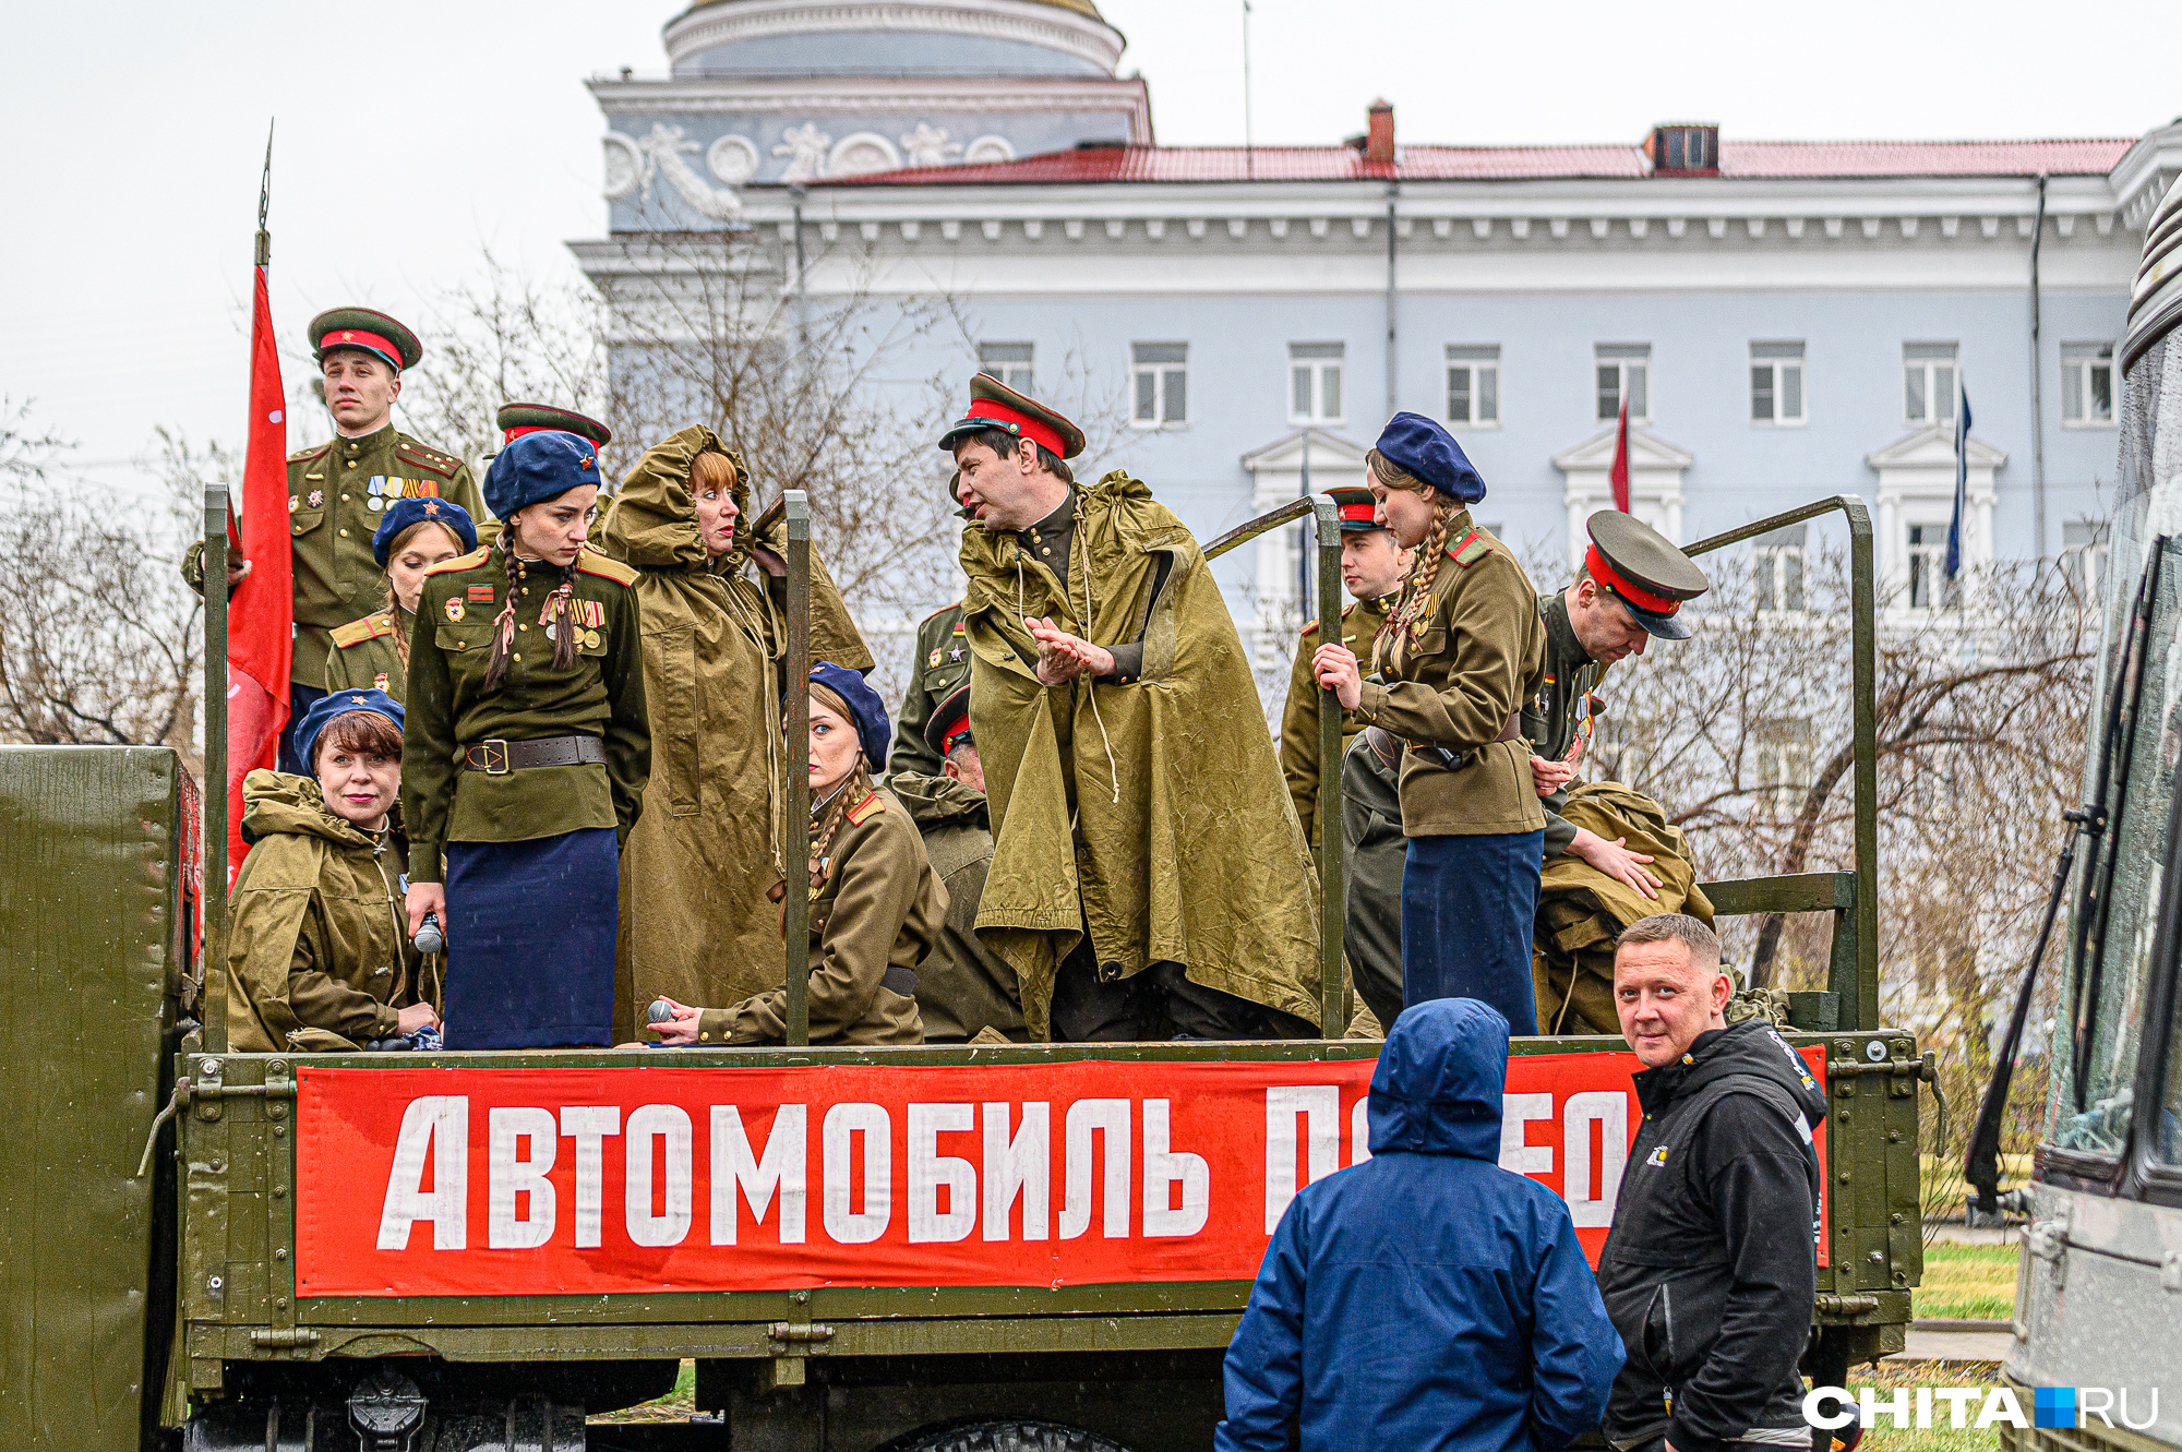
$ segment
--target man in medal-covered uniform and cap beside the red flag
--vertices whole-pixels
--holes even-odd
[[[417,334],[371,307],[334,307],[310,320],[312,358],[325,384],[334,438],[288,456],[288,547],[295,562],[295,661],[288,669],[284,772],[301,772],[290,733],[325,695],[325,663],[334,630],[377,608],[384,576],[371,558],[380,515],[397,499],[452,499],[480,525],[491,515],[469,477],[469,464],[441,453],[393,425],[401,373],[423,358]],[[244,501],[262,508],[262,501]],[[203,545],[183,558],[183,578],[203,589]],[[249,560],[229,560],[227,589],[242,582]]]

